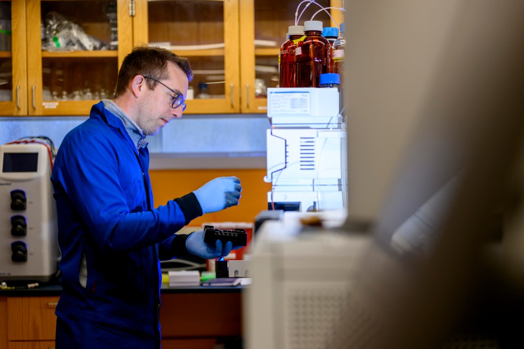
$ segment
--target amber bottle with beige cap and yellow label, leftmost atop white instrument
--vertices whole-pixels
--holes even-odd
[[[295,49],[298,40],[304,36],[304,26],[292,25],[288,27],[288,39],[280,47],[278,55],[278,70],[280,73],[279,87],[297,86],[297,59]]]

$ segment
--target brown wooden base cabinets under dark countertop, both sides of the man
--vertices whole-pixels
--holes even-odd
[[[162,349],[213,349],[217,343],[239,339],[243,289],[162,284]],[[0,348],[53,348],[60,293],[60,285],[0,290]]]

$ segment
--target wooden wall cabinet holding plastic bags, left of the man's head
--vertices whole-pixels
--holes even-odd
[[[0,48],[0,115],[89,115],[112,97],[133,47],[129,0],[0,3],[12,23],[12,45]]]

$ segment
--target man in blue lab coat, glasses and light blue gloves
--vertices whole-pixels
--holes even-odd
[[[187,59],[134,48],[115,98],[93,105],[60,146],[51,175],[62,253],[57,349],[159,348],[160,260],[190,253],[211,259],[235,248],[206,244],[203,230],[175,233],[202,214],[238,205],[237,177],[153,205],[146,136],[182,117],[191,79]]]

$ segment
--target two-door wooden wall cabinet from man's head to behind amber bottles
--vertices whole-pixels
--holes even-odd
[[[278,86],[280,46],[287,39],[288,26],[294,24],[300,1],[155,0],[146,4],[136,0],[136,3],[134,45],[170,48],[191,62],[194,79],[189,86],[195,99],[187,101],[186,114],[266,112],[266,89]],[[342,0],[318,3],[340,7]],[[319,9],[314,5],[305,10],[300,23]],[[331,12],[337,23],[341,23],[342,12],[333,9]],[[324,12],[315,19],[322,20],[325,26],[334,25]]]

